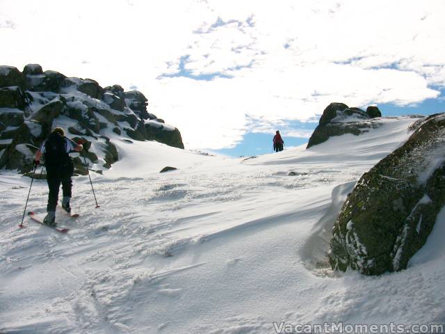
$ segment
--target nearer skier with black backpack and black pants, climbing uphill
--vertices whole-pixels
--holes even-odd
[[[58,201],[58,191],[60,183],[63,189],[62,207],[67,212],[71,212],[71,177],[74,173],[74,164],[68,155],[70,152],[81,152],[83,142],[74,146],[70,139],[65,137],[65,132],[61,127],[56,127],[42,146],[35,153],[34,164],[40,164],[40,157],[44,154],[45,167],[47,168],[47,183],[49,188],[47,216],[43,223],[47,225],[56,225],[56,206]]]

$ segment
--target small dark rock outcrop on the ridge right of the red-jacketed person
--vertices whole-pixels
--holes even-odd
[[[333,102],[323,111],[306,148],[323,143],[331,136],[362,134],[371,127],[378,127],[377,122],[369,122],[369,120],[381,116],[377,106],[369,106],[365,112],[359,108],[349,108],[346,104]]]

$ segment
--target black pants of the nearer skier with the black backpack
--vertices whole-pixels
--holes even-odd
[[[65,164],[65,166],[48,165],[46,168],[49,188],[47,212],[50,212],[56,211],[60,183],[62,184],[63,197],[71,197],[71,177],[74,172],[74,166],[72,161],[70,161],[68,164]]]

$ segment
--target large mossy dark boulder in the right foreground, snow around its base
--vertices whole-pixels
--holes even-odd
[[[333,269],[405,269],[445,205],[445,114],[430,116],[357,182],[334,223]]]

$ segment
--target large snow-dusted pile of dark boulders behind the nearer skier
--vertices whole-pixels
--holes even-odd
[[[92,79],[43,72],[38,64],[23,72],[0,66],[0,168],[29,172],[35,151],[56,126],[87,143],[88,151],[74,154],[77,174],[87,172],[84,158],[99,173],[110,168],[118,160],[116,136],[184,148],[179,130],[149,113],[147,97],[137,90],[102,88]]]

